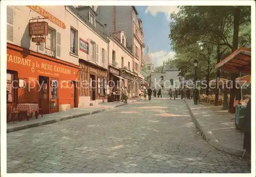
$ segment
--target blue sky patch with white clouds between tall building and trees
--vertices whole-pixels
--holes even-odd
[[[144,43],[150,45],[155,65],[162,65],[164,60],[175,55],[170,51],[168,16],[170,12],[177,12],[178,9],[176,6],[136,6],[136,9],[143,22]]]

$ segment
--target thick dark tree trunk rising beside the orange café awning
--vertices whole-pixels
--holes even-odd
[[[234,31],[233,31],[233,43],[232,43],[232,52],[238,49],[238,34],[239,34],[239,22],[240,22],[240,7],[234,8]],[[231,74],[232,88],[230,90],[230,100],[229,100],[229,113],[234,113],[234,97],[236,95],[236,78],[238,73]]]

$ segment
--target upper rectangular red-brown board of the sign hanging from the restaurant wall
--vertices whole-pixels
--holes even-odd
[[[30,36],[47,36],[48,23],[46,21],[29,22],[29,35]]]

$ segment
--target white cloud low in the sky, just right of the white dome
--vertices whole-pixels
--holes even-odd
[[[167,61],[168,59],[173,59],[175,56],[175,52],[165,52],[163,50],[151,53],[154,58],[155,66],[163,65],[163,61]]]

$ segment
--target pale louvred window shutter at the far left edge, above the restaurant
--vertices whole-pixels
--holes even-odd
[[[7,29],[6,35],[7,40],[13,42],[14,41],[14,9],[12,7],[7,6]]]

